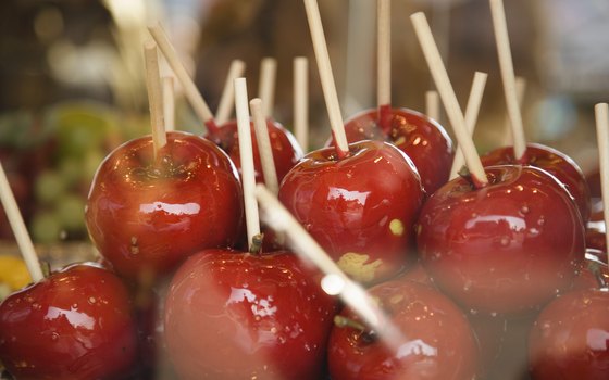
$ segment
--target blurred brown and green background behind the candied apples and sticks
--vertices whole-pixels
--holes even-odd
[[[375,2],[320,0],[345,117],[375,104]],[[506,1],[515,74],[526,80],[526,137],[571,155],[596,183],[593,105],[609,100],[609,2]],[[474,71],[489,74],[475,142],[504,144],[506,116],[487,0],[394,0],[391,97],[424,111],[434,88],[409,15],[427,14],[464,107]],[[293,59],[310,64],[310,147],[330,135],[309,28],[298,0],[7,0],[0,2],[0,160],[34,240],[86,241],[92,175],[121,142],[148,134],[142,40],[160,20],[215,110],[232,60],[250,97],[260,61],[277,60],[274,117],[293,124]],[[166,71],[166,67],[164,67]],[[177,92],[177,129],[203,126]],[[439,117],[449,134],[451,128]],[[595,187],[593,192],[597,193]],[[0,215],[0,240],[13,240]]]

